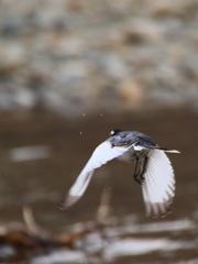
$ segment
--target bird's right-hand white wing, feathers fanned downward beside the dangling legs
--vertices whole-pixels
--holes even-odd
[[[144,177],[142,191],[147,216],[165,216],[175,196],[175,176],[163,151],[150,151]]]

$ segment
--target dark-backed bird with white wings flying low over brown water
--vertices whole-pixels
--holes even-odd
[[[66,197],[64,208],[73,206],[85,193],[96,168],[118,158],[136,162],[133,177],[142,186],[146,215],[165,216],[175,196],[175,176],[165,152],[153,140],[138,131],[113,130],[110,138],[92,153]]]

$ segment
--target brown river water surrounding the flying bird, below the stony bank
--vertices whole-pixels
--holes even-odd
[[[46,113],[28,117],[8,113],[0,116],[0,128],[1,223],[22,220],[22,207],[29,205],[42,227],[54,234],[61,233],[68,224],[94,219],[106,188],[111,194],[114,217],[105,230],[108,243],[100,249],[100,256],[97,251],[89,252],[94,243],[99,243],[100,233],[84,241],[86,257],[95,256],[89,263],[101,260],[102,263],[198,263],[198,116],[195,112],[161,110],[113,117],[98,113],[95,118],[82,114],[73,122]],[[165,219],[145,218],[141,189],[132,178],[134,167],[117,161],[96,172],[76,206],[66,211],[58,209],[94,148],[114,128],[142,131],[161,146],[182,152],[169,155],[177,189],[173,213]],[[13,148],[41,145],[44,156],[21,162],[13,157]],[[81,263],[88,263],[80,255],[85,254],[85,246],[77,249]],[[63,254],[62,263],[69,263],[66,256]],[[52,258],[35,258],[33,263],[58,263]],[[77,258],[70,263],[75,262],[79,263]]]

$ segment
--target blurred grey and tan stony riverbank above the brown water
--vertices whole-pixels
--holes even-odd
[[[198,2],[1,1],[0,109],[198,105]]]

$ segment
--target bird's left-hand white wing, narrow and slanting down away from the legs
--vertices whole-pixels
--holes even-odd
[[[87,186],[91,179],[94,170],[107,162],[122,155],[131,146],[113,146],[109,141],[101,143],[92,153],[88,163],[79,174],[78,178],[72,186],[66,197],[64,207],[68,208],[73,206],[85,193]]]

